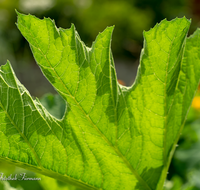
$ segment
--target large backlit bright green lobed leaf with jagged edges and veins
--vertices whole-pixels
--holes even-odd
[[[0,159],[86,189],[161,190],[200,75],[197,30],[163,20],[144,32],[135,83],[117,83],[113,27],[91,48],[74,25],[18,13],[43,74],[67,102],[62,119],[0,70]]]

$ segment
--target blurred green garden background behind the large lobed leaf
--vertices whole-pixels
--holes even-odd
[[[54,19],[57,27],[69,28],[74,23],[81,39],[91,46],[99,32],[115,25],[112,39],[118,79],[130,86],[135,79],[143,43],[143,31],[162,19],[192,18],[189,35],[200,27],[200,0],[0,0],[0,65],[10,60],[17,77],[52,114],[62,117],[64,103],[43,77],[26,40],[15,23],[15,9],[39,18]],[[39,85],[38,85],[39,84]],[[55,113],[53,113],[53,110]],[[58,111],[59,110],[59,111]],[[179,146],[170,166],[166,190],[200,189],[200,93],[197,92]],[[0,172],[24,170],[0,162]],[[38,174],[26,171],[29,176]],[[31,184],[30,184],[31,183]],[[50,186],[48,186],[50,184]],[[34,182],[0,182],[1,189],[75,189],[42,177]]]

